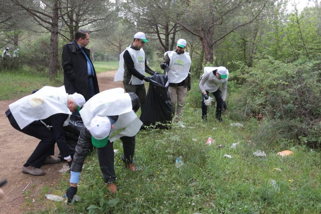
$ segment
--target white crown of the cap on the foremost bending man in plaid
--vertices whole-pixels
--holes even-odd
[[[91,120],[89,132],[95,139],[102,140],[109,135],[110,129],[111,123],[109,118],[107,116],[97,115]]]

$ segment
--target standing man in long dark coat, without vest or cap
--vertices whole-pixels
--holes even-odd
[[[78,30],[75,39],[63,47],[62,67],[64,85],[68,94],[82,94],[86,101],[99,93],[95,68],[90,60],[89,33]]]

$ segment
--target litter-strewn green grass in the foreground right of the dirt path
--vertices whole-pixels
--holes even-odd
[[[231,119],[238,94],[237,90],[228,94],[229,110],[223,113],[222,123],[215,120],[214,107],[203,123],[200,92],[193,80],[183,110],[186,128],[144,130],[136,135],[134,161],[143,167],[141,171],[125,169],[120,160],[121,141],[114,142],[114,149],[119,149],[115,154],[116,195],[106,190],[94,151],[81,173],[77,193],[81,201],[65,205],[47,200],[39,213],[320,213],[320,152],[294,146],[292,156],[280,157],[276,153],[283,150],[281,146],[268,149],[253,144],[251,137],[260,124]],[[234,122],[244,127],[230,126]],[[215,143],[205,146],[209,136]],[[230,149],[235,142],[240,145]],[[217,148],[219,144],[225,147]],[[267,157],[253,156],[257,149],[265,150]],[[180,155],[184,165],[176,168]],[[65,173],[60,185],[50,187],[48,193],[62,195],[69,176]]]

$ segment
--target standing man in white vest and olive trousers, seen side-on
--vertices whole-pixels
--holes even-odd
[[[119,68],[114,79],[114,81],[123,81],[127,93],[134,92],[138,96],[141,111],[143,111],[146,99],[144,82],[149,82],[149,77],[145,76],[145,72],[150,75],[158,74],[146,64],[143,50],[145,42],[148,42],[148,40],[143,32],[134,35],[134,42],[119,56]]]

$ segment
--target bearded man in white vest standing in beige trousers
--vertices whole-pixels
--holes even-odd
[[[169,66],[169,95],[173,104],[174,114],[176,110],[176,99],[177,99],[177,119],[181,120],[182,111],[184,107],[184,99],[186,97],[187,91],[191,90],[191,57],[189,53],[184,52],[187,45],[185,39],[178,39],[176,50],[167,51],[164,54],[163,62],[160,64],[160,68],[164,69]],[[183,126],[183,125],[182,125]]]

